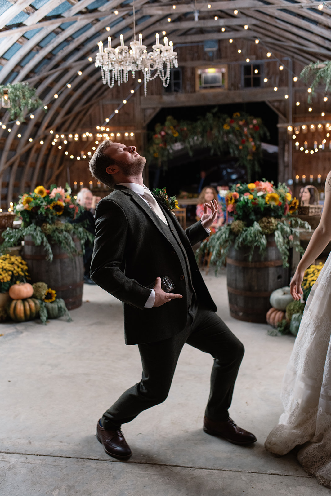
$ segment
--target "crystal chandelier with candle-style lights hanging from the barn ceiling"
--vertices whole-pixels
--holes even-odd
[[[164,45],[160,44],[159,35],[155,35],[153,51],[147,52],[146,45],[142,44],[142,34],[139,41],[135,37],[135,19],[133,5],[133,40],[130,49],[124,45],[123,34],[120,35],[121,45],[112,48],[112,39],[108,37],[108,48],[103,49],[102,41],[99,41],[99,53],[95,57],[95,66],[100,67],[103,84],[114,87],[115,81],[119,85],[129,81],[129,72],[134,78],[135,72],[142,70],[144,79],[144,95],[147,95],[147,81],[160,77],[166,88],[170,81],[170,69],[178,67],[177,53],[173,50],[172,41],[168,44],[168,38],[163,38]]]

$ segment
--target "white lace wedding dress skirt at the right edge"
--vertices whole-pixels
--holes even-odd
[[[284,413],[265,448],[298,461],[331,488],[331,253],[314,284],[283,379]]]

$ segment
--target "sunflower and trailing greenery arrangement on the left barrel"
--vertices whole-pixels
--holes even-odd
[[[33,192],[20,195],[13,210],[22,217],[22,226],[17,229],[8,227],[2,233],[4,242],[0,246],[1,251],[17,246],[25,236],[31,236],[36,246],[44,246],[47,259],[52,261],[50,243],[61,245],[70,256],[77,253],[72,235],[80,240],[82,249],[86,240],[93,243],[93,236],[84,228],[84,223],[68,222],[84,209],[75,202],[67,184],[66,188],[37,186]]]

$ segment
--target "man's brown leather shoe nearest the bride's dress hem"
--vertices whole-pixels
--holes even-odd
[[[209,420],[204,417],[203,431],[207,434],[224,437],[224,439],[233,444],[252,444],[257,440],[254,434],[238,427],[230,417],[227,420],[219,421]]]

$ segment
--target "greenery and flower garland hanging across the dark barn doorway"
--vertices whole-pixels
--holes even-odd
[[[245,167],[248,181],[260,171],[261,140],[268,130],[260,118],[236,112],[230,118],[218,114],[217,108],[195,122],[177,122],[168,116],[164,124],[156,124],[147,148],[150,161],[161,167],[172,157],[175,144],[186,146],[190,156],[194,148],[209,148],[210,154],[230,153]]]

